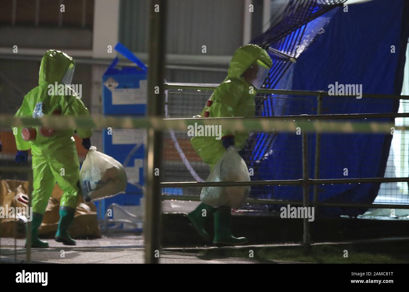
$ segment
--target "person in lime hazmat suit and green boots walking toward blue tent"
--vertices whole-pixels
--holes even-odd
[[[245,45],[236,50],[229,64],[226,79],[216,88],[203,108],[200,117],[254,117],[254,96],[261,88],[272,60],[267,52],[258,45]],[[200,158],[213,169],[226,149],[235,145],[243,149],[248,133],[234,133],[222,129],[222,141],[215,137],[195,136],[191,144]],[[214,244],[240,245],[247,238],[236,238],[231,234],[231,208],[213,208],[201,203],[187,217],[196,231],[211,240],[205,229],[207,220],[214,215]]]

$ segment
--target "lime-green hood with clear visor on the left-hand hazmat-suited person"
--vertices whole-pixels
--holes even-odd
[[[48,50],[41,59],[38,85],[47,83],[71,84],[75,61],[64,52]]]

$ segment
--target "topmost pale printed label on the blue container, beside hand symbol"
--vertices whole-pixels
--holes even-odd
[[[112,104],[146,104],[146,88],[146,80],[139,81],[139,88],[115,88],[112,90]]]

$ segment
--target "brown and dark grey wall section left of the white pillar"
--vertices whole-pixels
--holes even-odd
[[[64,12],[61,12],[61,3]],[[94,0],[2,0],[0,47],[92,49]]]

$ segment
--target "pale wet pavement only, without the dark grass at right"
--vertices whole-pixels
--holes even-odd
[[[99,239],[79,239],[76,246],[65,246],[49,239],[49,248],[31,249],[31,261],[43,263],[144,263],[141,235],[110,234]],[[1,238],[0,262],[24,263],[25,239]],[[229,256],[203,256],[195,250],[161,250],[160,263],[258,263],[252,258]],[[265,262],[265,261],[262,261]],[[276,262],[276,261],[272,261]]]

